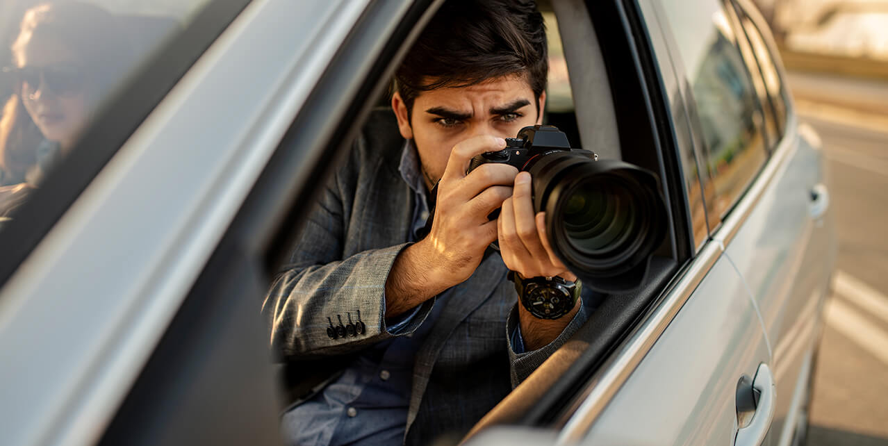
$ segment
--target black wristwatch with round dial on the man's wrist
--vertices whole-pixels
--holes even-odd
[[[514,271],[509,279],[515,283],[519,301],[531,315],[539,319],[558,319],[570,313],[580,299],[583,283],[567,282],[559,276],[525,278]]]

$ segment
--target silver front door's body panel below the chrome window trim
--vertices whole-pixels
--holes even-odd
[[[583,444],[728,444],[741,376],[769,361],[736,269],[718,256],[702,283],[601,413]]]

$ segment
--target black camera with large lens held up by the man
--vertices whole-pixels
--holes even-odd
[[[505,163],[529,172],[534,211],[546,212],[546,235],[559,259],[584,286],[627,292],[644,282],[666,235],[666,206],[653,172],[598,158],[571,148],[558,128],[534,125],[506,139],[502,150],[472,158],[468,171]]]

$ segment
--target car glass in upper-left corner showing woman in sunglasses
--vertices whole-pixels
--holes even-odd
[[[208,1],[0,6],[0,229],[56,173],[134,68]]]

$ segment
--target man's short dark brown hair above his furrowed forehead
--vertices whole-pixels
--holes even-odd
[[[395,72],[408,115],[420,92],[524,76],[539,98],[549,60],[543,14],[533,0],[448,0]]]

